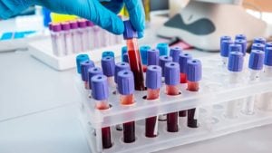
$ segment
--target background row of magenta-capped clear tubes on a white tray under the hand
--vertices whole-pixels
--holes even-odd
[[[63,57],[122,43],[122,37],[103,30],[91,21],[76,21],[49,24],[53,54]]]

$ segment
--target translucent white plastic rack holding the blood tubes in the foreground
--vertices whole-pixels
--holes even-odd
[[[222,68],[220,65],[219,55],[213,55],[200,59],[203,65],[203,79],[200,81],[199,92],[187,91],[186,85],[180,84],[181,94],[168,96],[164,94],[165,87],[163,86],[160,89],[159,100],[144,100],[146,91],[136,91],[136,103],[125,107],[119,104],[119,95],[113,94],[116,89],[112,88],[112,95],[109,98],[112,107],[103,111],[94,109],[95,102],[89,97],[90,91],[83,88],[83,82],[80,76],[77,76],[75,84],[82,98],[80,120],[92,152],[154,152],[271,124],[272,110],[261,110],[257,107],[258,103],[263,101],[256,101],[256,109],[252,115],[239,111],[236,119],[228,119],[225,116],[224,109],[228,101],[242,100],[248,96],[267,92],[272,94],[272,77],[261,77],[259,81],[247,82],[249,71],[246,59],[248,56],[245,58],[241,77],[243,81],[238,84],[228,83],[227,68]],[[187,118],[180,117],[179,132],[168,132],[166,121],[159,121],[159,135],[156,138],[145,137],[144,120],[146,118],[192,108],[199,108],[199,128],[188,128]],[[136,141],[124,143],[122,131],[116,130],[114,126],[131,120],[136,120]],[[101,129],[103,127],[112,129],[112,148],[102,149]]]

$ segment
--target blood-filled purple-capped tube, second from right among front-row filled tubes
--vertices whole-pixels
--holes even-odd
[[[166,94],[176,96],[180,94],[180,64],[177,62],[167,62],[165,64],[165,84]],[[167,131],[179,131],[179,112],[167,114]]]

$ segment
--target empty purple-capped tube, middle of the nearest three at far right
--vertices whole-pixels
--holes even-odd
[[[249,78],[248,83],[259,80],[259,75],[264,67],[265,53],[259,50],[252,50],[249,57],[248,68]],[[254,114],[254,104],[256,96],[250,96],[245,99],[242,106],[242,112],[247,115]]]

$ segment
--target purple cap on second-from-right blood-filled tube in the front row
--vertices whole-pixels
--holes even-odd
[[[167,85],[180,83],[180,64],[178,62],[167,62],[165,64],[165,83]]]

